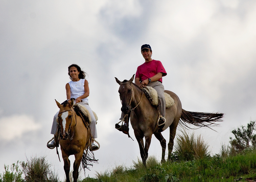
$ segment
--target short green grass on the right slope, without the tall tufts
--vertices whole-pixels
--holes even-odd
[[[111,171],[98,173],[97,178],[84,181],[246,181],[256,179],[256,151],[226,158],[216,155],[192,161],[166,162],[160,164],[154,157],[147,167],[141,161],[130,168],[117,166]]]

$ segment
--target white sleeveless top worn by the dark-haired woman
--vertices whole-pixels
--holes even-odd
[[[71,90],[71,98],[78,98],[84,95],[84,80],[80,79],[79,81],[69,81],[68,84]],[[83,104],[88,104],[88,97],[82,99]]]

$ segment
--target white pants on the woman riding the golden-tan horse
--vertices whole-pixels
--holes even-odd
[[[96,129],[96,119],[94,117],[94,113],[92,112],[92,110],[90,109],[90,106],[87,104],[81,104],[84,107],[86,107],[86,109],[89,111],[90,113],[90,117],[91,117],[91,123],[90,123],[90,132],[93,138],[97,138],[97,129]],[[58,129],[58,124],[57,124],[57,117],[58,117],[59,111],[54,115],[53,117],[53,125],[52,125],[52,131],[51,134],[55,134],[57,132]]]

